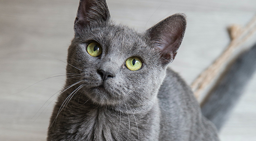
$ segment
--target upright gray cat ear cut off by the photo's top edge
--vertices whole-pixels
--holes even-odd
[[[81,33],[83,28],[90,24],[100,24],[109,20],[110,13],[106,0],[80,0],[74,30],[75,33]]]

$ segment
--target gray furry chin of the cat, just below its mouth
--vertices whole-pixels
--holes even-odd
[[[103,84],[97,87],[88,88],[86,95],[94,103],[100,105],[116,105],[119,104],[119,100],[121,100],[116,94],[109,92]]]

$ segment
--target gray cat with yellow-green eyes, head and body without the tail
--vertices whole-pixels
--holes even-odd
[[[184,14],[174,14],[139,33],[111,22],[105,0],[80,0],[47,141],[218,141],[167,67],[185,28]]]

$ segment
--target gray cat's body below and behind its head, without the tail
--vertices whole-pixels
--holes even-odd
[[[70,92],[59,97],[51,121]],[[51,141],[214,141],[214,125],[200,112],[193,93],[180,76],[167,68],[158,100],[147,107],[129,104],[99,106],[77,92],[49,130]],[[136,120],[136,121],[135,121]],[[137,127],[138,126],[138,127]]]

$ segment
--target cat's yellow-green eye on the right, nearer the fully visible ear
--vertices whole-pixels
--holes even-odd
[[[142,62],[138,57],[130,57],[125,62],[126,67],[131,71],[137,71],[141,68]]]

